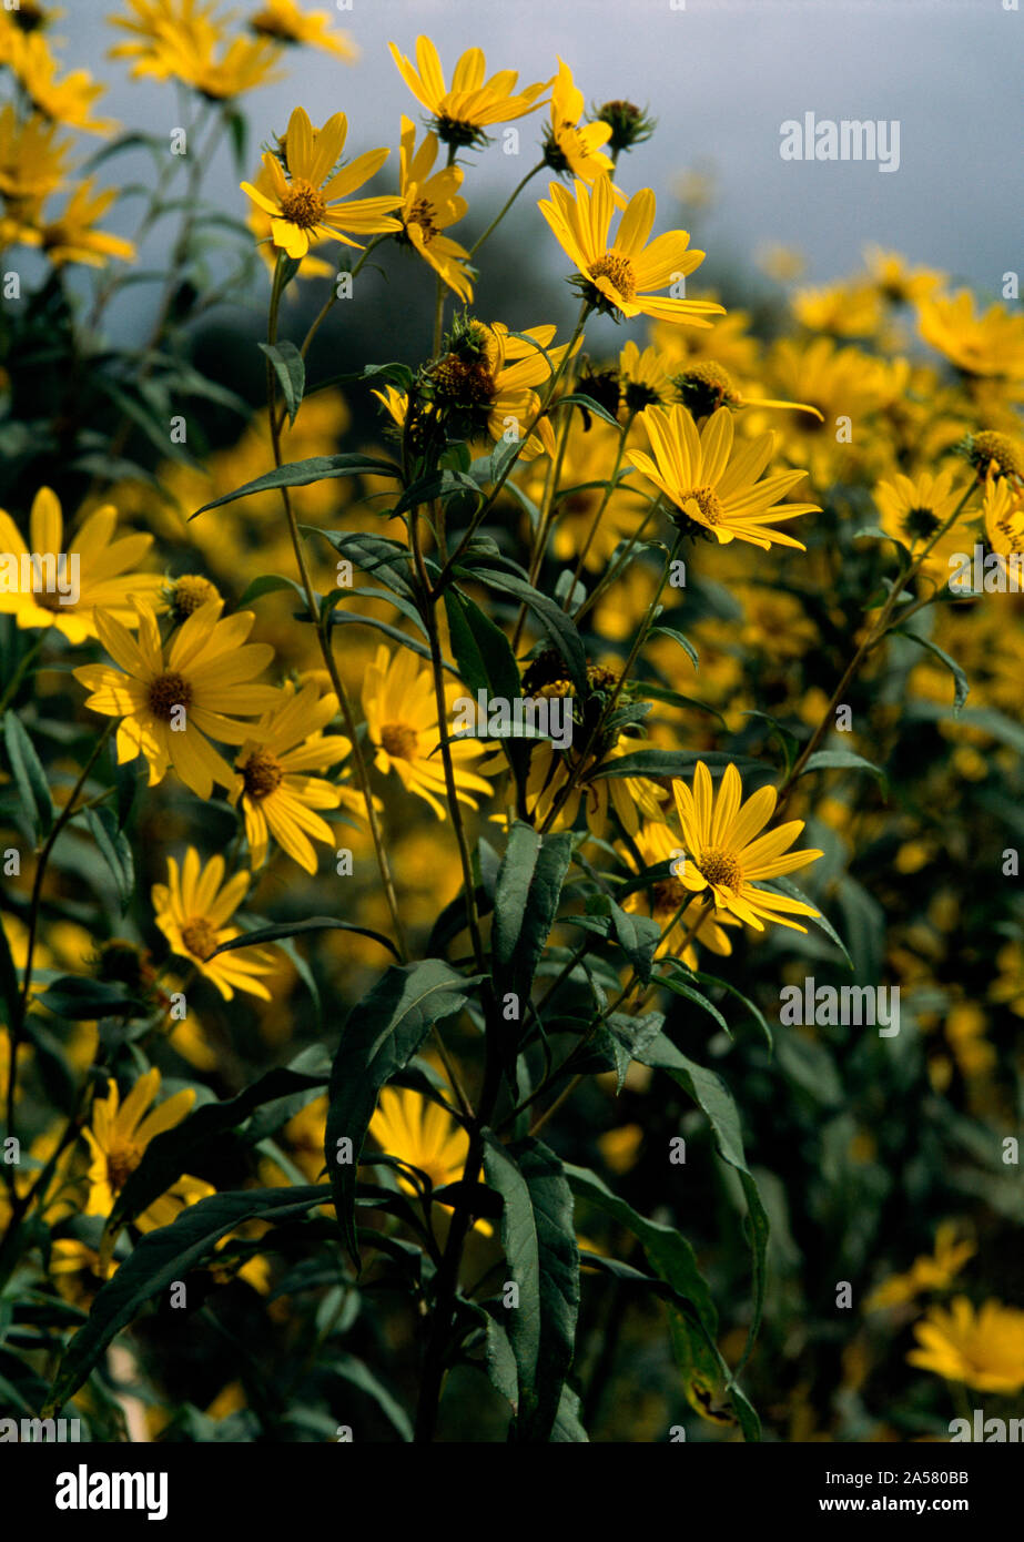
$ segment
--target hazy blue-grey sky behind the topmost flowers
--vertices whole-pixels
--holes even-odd
[[[237,3],[254,9],[256,0]],[[333,0],[301,0],[335,11]],[[1009,3],[1009,0],[1007,0]],[[517,68],[521,82],[547,79],[561,56],[586,102],[628,97],[649,105],[655,137],[621,163],[626,191],[668,196],[694,162],[716,171],[716,207],[691,221],[691,241],[708,251],[694,284],[714,284],[716,254],[729,267],[753,262],[765,242],[802,248],[808,282],[854,268],[867,241],[896,247],[948,270],[993,298],[1005,270],[1019,270],[1021,57],[1024,12],[1004,0],[352,0],[338,22],[359,43],[347,66],[313,49],[288,56],[290,79],[245,97],[253,165],[256,148],[302,103],[319,123],[335,111],[350,122],[349,151],[398,142],[399,114],[421,109],[387,51],[406,54],[418,32],[436,42],[446,74],[478,45],[487,71]],[[130,82],[103,54],[123,34],[106,23],[116,0],[65,0],[59,31],[65,63],[111,83],[102,109],[126,126],[162,133],[177,122],[171,86]],[[785,162],[780,123],[820,119],[899,120],[901,165]],[[520,157],[492,146],[467,170],[464,191],[493,207],[532,165],[546,109],[520,123]],[[103,180],[136,177],[147,162],[109,162]],[[396,174],[396,148],[389,168]],[[541,182],[541,179],[538,179]],[[245,214],[227,153],[210,168],[208,191]],[[543,187],[543,183],[541,183]],[[531,200],[532,202],[532,200]],[[137,211],[137,202],[131,205]],[[128,207],[116,221],[130,230]],[[564,268],[535,208],[541,261]],[[478,225],[475,228],[480,228]],[[458,236],[460,231],[456,230]],[[156,250],[150,254],[156,254]],[[131,290],[128,291],[133,293]]]

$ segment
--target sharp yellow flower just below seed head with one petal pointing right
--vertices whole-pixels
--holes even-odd
[[[686,407],[648,407],[638,419],[651,438],[654,460],[628,450],[628,460],[643,472],[686,520],[702,526],[716,541],[749,541],[768,550],[802,541],[774,527],[779,520],[820,513],[814,503],[782,503],[785,493],[807,475],[776,472],[759,481],[771,460],[774,433],[745,441],[734,452],[733,415],[719,407],[700,433]]]

